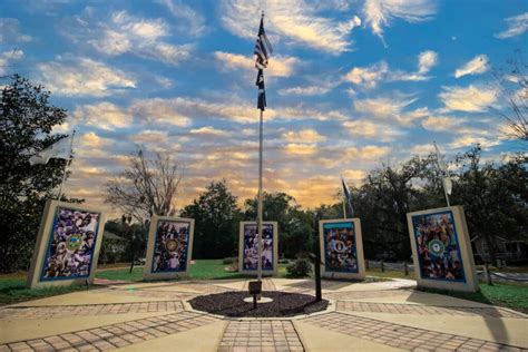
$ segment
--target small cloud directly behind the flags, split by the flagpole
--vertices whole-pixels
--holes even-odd
[[[227,69],[246,69],[255,71],[255,59],[251,56],[243,56],[238,53],[215,51],[215,59],[222,67]],[[295,57],[274,57],[270,61],[266,74],[276,77],[290,77],[295,70],[295,67],[301,63],[301,60]]]

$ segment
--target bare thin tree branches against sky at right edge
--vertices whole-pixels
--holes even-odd
[[[503,121],[503,131],[508,137],[528,141],[528,63],[520,50],[517,57],[507,61],[505,68],[495,69],[498,85],[497,95],[506,105],[505,110],[491,107]]]

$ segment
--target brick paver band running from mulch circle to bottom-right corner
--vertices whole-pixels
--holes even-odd
[[[413,351],[522,351],[520,348],[343,313],[303,320],[342,334]]]

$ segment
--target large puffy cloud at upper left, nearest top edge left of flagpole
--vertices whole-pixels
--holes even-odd
[[[164,41],[170,35],[170,27],[163,19],[146,19],[118,11],[106,21],[87,8],[82,16],[65,26],[63,33],[75,42],[88,43],[107,56],[133,53],[138,57],[178,65],[192,56],[193,45],[173,45]],[[75,29],[75,30],[74,30]]]

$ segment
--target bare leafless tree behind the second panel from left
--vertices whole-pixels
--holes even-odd
[[[129,167],[107,184],[106,202],[131,214],[140,224],[153,215],[175,214],[174,197],[183,176],[183,165],[168,153],[155,153],[154,159],[146,157],[147,150],[139,148],[129,157]]]

